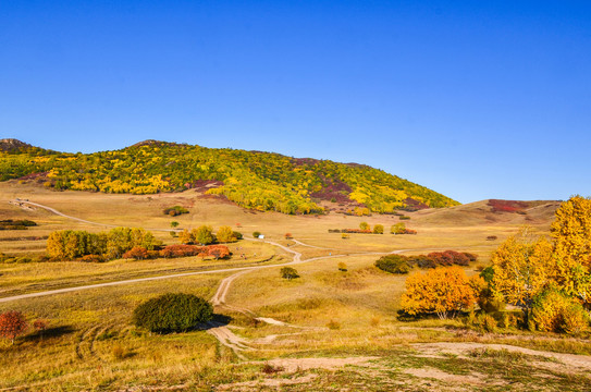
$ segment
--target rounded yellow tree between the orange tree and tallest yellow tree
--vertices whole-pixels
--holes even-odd
[[[552,243],[544,236],[534,236],[531,229],[522,228],[509,236],[493,253],[493,296],[519,306],[529,313],[533,298],[554,279],[555,264]]]

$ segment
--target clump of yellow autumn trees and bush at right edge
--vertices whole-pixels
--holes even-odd
[[[531,329],[578,333],[591,307],[591,198],[574,196],[552,223],[553,241],[530,228],[508,237],[492,257],[494,296],[524,309]]]

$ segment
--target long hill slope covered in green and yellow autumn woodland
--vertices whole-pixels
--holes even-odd
[[[208,194],[224,195],[246,208],[284,213],[323,212],[331,205],[358,215],[458,205],[424,186],[357,163],[158,140],[94,154],[23,145],[0,151],[1,181],[41,179],[56,189],[133,194],[207,188]]]

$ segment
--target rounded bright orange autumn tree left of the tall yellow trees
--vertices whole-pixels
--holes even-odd
[[[476,303],[482,278],[469,279],[457,266],[435,268],[406,280],[406,292],[401,306],[409,315],[434,313],[441,319],[455,317]]]

